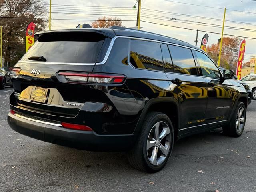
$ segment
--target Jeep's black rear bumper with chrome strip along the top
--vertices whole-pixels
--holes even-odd
[[[94,131],[72,130],[60,124],[36,121],[8,114],[8,124],[16,132],[53,144],[91,151],[124,151],[132,147],[136,134],[99,135]]]

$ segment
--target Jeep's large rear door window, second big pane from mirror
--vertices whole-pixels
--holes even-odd
[[[197,75],[196,64],[190,49],[174,45],[168,45],[168,47],[176,73]]]

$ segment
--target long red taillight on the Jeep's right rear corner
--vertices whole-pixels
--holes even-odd
[[[94,73],[74,73],[74,72],[59,72],[58,75],[65,76],[70,82],[86,82],[86,83],[106,83],[106,84],[121,84],[126,76],[113,74],[94,74]]]

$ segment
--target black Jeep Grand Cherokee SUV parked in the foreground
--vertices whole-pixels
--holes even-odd
[[[202,50],[122,27],[52,30],[13,69],[8,123],[21,134],[85,150],[126,150],[157,172],[174,140],[244,130],[248,96]]]

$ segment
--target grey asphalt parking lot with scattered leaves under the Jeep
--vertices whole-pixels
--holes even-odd
[[[253,192],[256,191],[256,101],[240,138],[217,129],[175,143],[155,174],[130,167],[123,152],[88,152],[14,132],[8,96],[0,90],[0,192]]]

